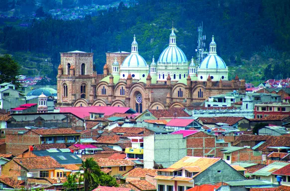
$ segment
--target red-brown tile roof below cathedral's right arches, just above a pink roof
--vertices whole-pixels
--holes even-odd
[[[162,117],[190,117],[183,108],[172,108],[172,109],[148,109],[152,115],[155,117],[162,118]]]

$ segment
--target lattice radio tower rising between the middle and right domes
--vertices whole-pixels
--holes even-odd
[[[199,65],[201,64],[202,60],[208,55],[207,50],[204,50],[205,47],[205,39],[206,36],[202,35],[202,22],[201,22],[201,26],[199,25],[197,27],[197,32],[198,32],[198,40],[197,40],[197,49],[195,49],[196,52],[196,62],[197,62],[197,66],[199,67]]]

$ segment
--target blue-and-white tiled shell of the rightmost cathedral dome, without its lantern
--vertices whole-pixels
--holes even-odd
[[[208,55],[201,62],[200,69],[225,69],[226,65],[224,61],[217,55]]]

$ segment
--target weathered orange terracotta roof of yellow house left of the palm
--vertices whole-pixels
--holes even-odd
[[[49,156],[14,158],[13,160],[27,170],[62,168],[62,166],[56,160]]]

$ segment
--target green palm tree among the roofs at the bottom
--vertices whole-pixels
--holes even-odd
[[[101,176],[101,171],[97,162],[93,158],[87,158],[82,162],[80,167],[84,171],[84,187],[85,191],[90,191],[92,188],[97,188],[98,178]]]

